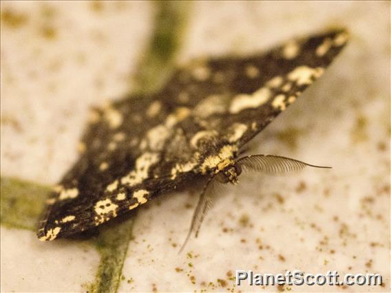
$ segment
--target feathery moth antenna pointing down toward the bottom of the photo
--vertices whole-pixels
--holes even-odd
[[[207,216],[208,211],[213,206],[214,199],[217,195],[217,189],[220,183],[218,180],[213,180],[214,176],[211,177],[207,183],[204,185],[204,189],[200,195],[200,199],[198,199],[198,204],[195,207],[193,218],[191,219],[191,224],[189,228],[189,232],[187,233],[186,239],[182,244],[179,252],[182,252],[184,246],[186,246],[187,241],[189,241],[191,234],[195,232],[195,237],[198,237],[198,233],[200,232],[202,221]]]

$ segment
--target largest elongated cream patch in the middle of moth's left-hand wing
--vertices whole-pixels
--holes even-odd
[[[147,179],[149,168],[159,160],[158,153],[143,153],[136,160],[136,169],[121,178],[121,183],[128,186],[140,184]]]

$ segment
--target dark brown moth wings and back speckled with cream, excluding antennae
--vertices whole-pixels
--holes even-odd
[[[347,39],[332,30],[264,54],[194,61],[157,94],[92,110],[80,158],[47,200],[39,239],[88,230],[218,173],[323,74]]]

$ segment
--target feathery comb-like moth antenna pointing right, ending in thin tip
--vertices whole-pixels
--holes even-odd
[[[328,166],[316,166],[279,155],[248,155],[237,160],[236,164],[244,171],[258,171],[271,174],[299,171],[307,166],[331,169],[331,167]]]

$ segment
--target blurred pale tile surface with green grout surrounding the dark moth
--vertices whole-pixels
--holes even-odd
[[[87,240],[40,243],[50,186],[88,109],[191,58],[345,27],[326,74],[251,142],[332,170],[241,177],[178,255],[198,194],[167,195]],[[1,1],[1,291],[390,291],[388,1]],[[235,286],[235,270],[380,273],[382,286]]]

